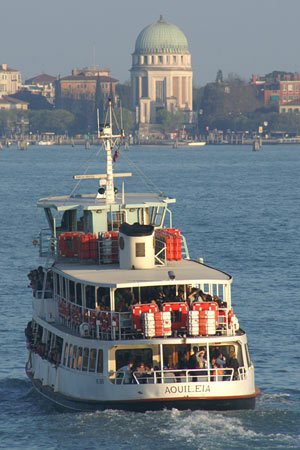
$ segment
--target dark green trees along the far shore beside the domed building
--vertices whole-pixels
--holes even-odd
[[[120,107],[122,107],[123,128],[128,134],[133,132],[135,127],[134,113],[130,111],[129,83],[118,84],[116,94],[118,98],[116,115],[121,122]],[[45,102],[44,98],[28,93],[18,93],[15,97],[28,101],[30,109],[1,110],[1,135],[25,130],[33,134],[45,132],[68,135],[93,134],[97,132],[97,110],[100,112],[100,122],[103,122],[107,102],[101,92],[100,79],[97,81],[95,100],[92,103],[67,99],[63,104],[59,91],[54,106]],[[193,128],[189,129],[194,135],[205,134],[215,129],[224,132],[228,130],[257,132],[264,123],[268,123],[268,130],[298,134],[300,124],[300,115],[279,114],[277,103],[264,105],[262,91],[234,74],[230,74],[224,80],[221,70],[218,71],[215,82],[208,83],[204,87],[194,87],[193,111]],[[180,129],[184,125],[184,114],[180,111],[172,114],[161,110],[157,114],[157,122],[165,132]]]

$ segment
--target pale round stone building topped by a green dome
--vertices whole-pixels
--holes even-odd
[[[139,124],[156,123],[161,109],[192,112],[193,70],[183,32],[162,16],[138,35],[132,54],[131,101]]]

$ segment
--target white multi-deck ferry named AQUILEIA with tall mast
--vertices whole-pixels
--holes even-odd
[[[113,161],[124,138],[109,103],[100,139],[106,173],[91,194],[42,198],[44,266],[29,274],[32,320],[26,373],[74,411],[253,409],[260,391],[232,277],[191,260],[173,227],[175,199],[119,193]],[[37,244],[38,242],[34,242]]]

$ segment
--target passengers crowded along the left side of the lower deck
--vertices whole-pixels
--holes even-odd
[[[28,322],[25,328],[27,348],[37,353],[42,359],[46,359],[55,367],[58,367],[61,360],[62,340],[58,340],[55,347],[51,348],[50,341],[46,344],[42,342],[42,331],[39,330],[35,336],[32,331],[32,322]]]

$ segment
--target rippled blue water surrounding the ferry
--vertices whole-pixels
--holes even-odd
[[[129,171],[130,158],[176,197],[173,225],[185,234],[190,256],[233,275],[234,309],[262,390],[255,411],[70,414],[31,389],[24,373],[27,273],[40,264],[32,240],[46,227],[36,201],[70,193],[73,174],[86,166],[101,173],[97,152],[0,152],[0,449],[300,449],[298,146],[131,147],[115,166]],[[135,178],[127,185],[141,190]],[[94,188],[92,181],[79,185],[81,192]]]

